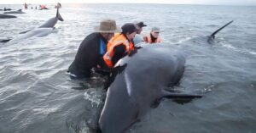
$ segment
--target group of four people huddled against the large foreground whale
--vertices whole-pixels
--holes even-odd
[[[79,46],[73,63],[68,68],[72,79],[84,79],[94,70],[100,73],[109,73],[120,58],[131,54],[139,47],[138,42],[161,42],[160,28],[153,27],[148,36],[142,36],[143,21],[126,23],[119,28],[113,19],[103,19],[95,27],[95,32],[84,38]]]

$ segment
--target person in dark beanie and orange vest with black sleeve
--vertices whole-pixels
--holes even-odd
[[[107,53],[103,56],[109,68],[113,68],[120,58],[134,50],[133,38],[136,35],[136,25],[126,23],[122,27],[122,33],[116,34],[108,42]]]

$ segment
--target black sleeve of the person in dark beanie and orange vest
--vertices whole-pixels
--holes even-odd
[[[125,45],[119,45],[113,48],[113,58],[112,63],[116,64],[120,58],[125,56]]]

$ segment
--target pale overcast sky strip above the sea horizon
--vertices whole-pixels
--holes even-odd
[[[0,0],[8,3],[173,3],[173,4],[224,4],[256,5],[256,0]]]

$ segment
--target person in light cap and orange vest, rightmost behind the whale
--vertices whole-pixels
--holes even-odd
[[[162,42],[160,34],[160,28],[159,27],[153,27],[150,34],[148,36],[144,36],[144,41],[151,44],[151,43],[160,43]]]

